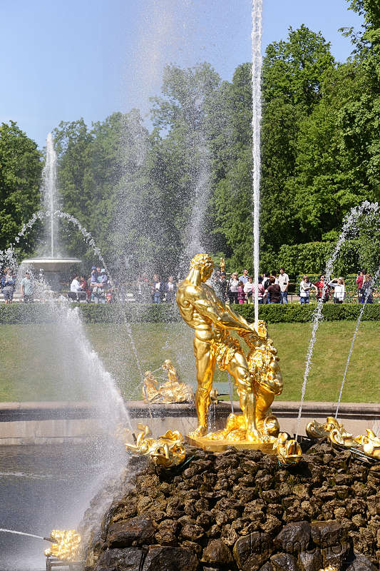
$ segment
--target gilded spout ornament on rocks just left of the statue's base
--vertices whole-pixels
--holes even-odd
[[[178,430],[167,430],[164,435],[152,438],[148,425],[138,424],[140,433],[135,444],[125,443],[125,449],[138,455],[150,456],[160,468],[173,468],[185,461],[186,450],[183,435]]]

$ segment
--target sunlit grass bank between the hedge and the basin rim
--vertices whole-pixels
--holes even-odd
[[[353,321],[339,321],[319,326],[307,400],[337,400],[355,325]],[[165,359],[171,359],[180,377],[195,385],[190,328],[184,323],[136,323],[131,325],[131,330],[142,372],[158,369]],[[86,325],[86,331],[93,349],[101,356],[125,398],[140,398],[142,376],[128,330],[120,325],[99,323]],[[344,402],[379,402],[379,333],[380,323],[361,323],[346,376]],[[277,347],[284,377],[284,391],[279,400],[299,400],[311,324],[269,325],[269,334]],[[1,325],[0,400],[86,398],[81,384],[88,373],[73,368],[71,359],[62,362],[59,343],[56,328],[51,325]],[[76,355],[71,358],[75,360]],[[157,375],[161,374],[158,370]],[[215,381],[225,383],[218,385],[220,392],[228,392],[226,380],[226,373],[215,373]]]

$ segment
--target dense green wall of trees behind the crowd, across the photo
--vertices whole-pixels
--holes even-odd
[[[380,198],[380,11],[364,16],[353,54],[337,63],[322,34],[302,25],[269,46],[263,61],[262,271],[324,271],[344,217]],[[113,273],[178,273],[205,248],[227,271],[252,267],[251,66],[221,81],[209,64],[168,66],[152,100],[153,129],[138,110],[86,126],[62,122],[53,136],[62,209],[93,234]],[[41,162],[15,123],[0,131],[1,247],[38,207]],[[62,232],[67,254],[93,260],[78,230]],[[377,218],[366,218],[335,273],[374,273]],[[29,243],[21,243],[24,253]],[[184,264],[184,265],[183,265]]]

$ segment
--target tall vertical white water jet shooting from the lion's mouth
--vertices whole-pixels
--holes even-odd
[[[262,117],[262,0],[252,2],[252,184],[255,329],[259,325],[260,128]]]

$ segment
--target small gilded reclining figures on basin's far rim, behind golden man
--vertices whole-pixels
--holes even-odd
[[[180,382],[178,373],[173,363],[167,359],[162,365],[168,375],[168,380],[163,385],[158,385],[158,380],[150,370],[145,372],[143,382],[143,398],[145,403],[186,403],[194,399],[192,388]]]

